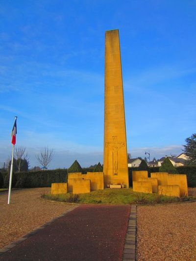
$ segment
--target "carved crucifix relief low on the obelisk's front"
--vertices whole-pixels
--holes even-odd
[[[125,146],[125,142],[118,142],[118,136],[112,136],[112,142],[105,142],[105,146],[112,149],[113,175],[118,175],[119,155],[118,151]]]

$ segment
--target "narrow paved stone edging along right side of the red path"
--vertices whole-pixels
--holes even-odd
[[[136,260],[136,205],[131,205],[128,227],[123,250],[123,261]]]

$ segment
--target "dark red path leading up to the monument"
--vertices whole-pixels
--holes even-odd
[[[4,253],[0,261],[121,261],[129,213],[129,205],[82,205]]]

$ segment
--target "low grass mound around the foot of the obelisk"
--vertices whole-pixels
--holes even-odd
[[[43,198],[60,202],[81,203],[81,204],[158,204],[189,201],[196,199],[196,196],[169,197],[158,193],[139,193],[132,189],[105,189],[96,190],[84,194],[43,194]]]

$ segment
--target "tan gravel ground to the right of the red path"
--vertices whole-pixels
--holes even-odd
[[[138,206],[137,260],[196,261],[196,202]]]

